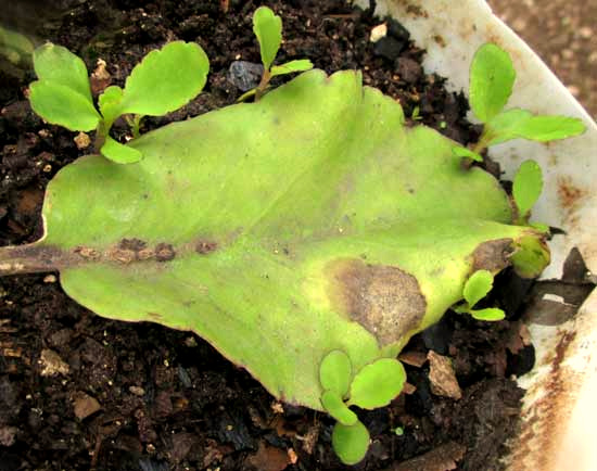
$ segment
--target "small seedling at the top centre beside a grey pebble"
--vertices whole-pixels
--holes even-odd
[[[252,96],[255,96],[255,100],[258,100],[267,89],[271,78],[277,75],[295,74],[313,68],[313,63],[308,59],[294,60],[282,65],[272,65],[282,43],[282,18],[276,15],[269,8],[259,7],[255,10],[253,14],[253,31],[259,42],[264,73],[257,88],[249,90],[239,98],[239,101],[244,101]]]

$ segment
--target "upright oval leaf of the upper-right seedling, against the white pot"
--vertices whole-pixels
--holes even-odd
[[[508,102],[516,71],[510,55],[496,44],[479,48],[470,71],[470,105],[475,116],[487,123]]]

